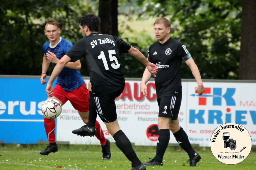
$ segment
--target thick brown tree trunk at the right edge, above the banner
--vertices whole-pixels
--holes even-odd
[[[239,79],[256,79],[256,1],[242,1]]]

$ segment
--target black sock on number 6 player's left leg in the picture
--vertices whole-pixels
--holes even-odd
[[[156,144],[156,156],[154,157],[154,160],[156,160],[158,162],[163,161],[164,153],[168,146],[169,140],[170,140],[170,130],[169,129],[160,129],[158,142]]]

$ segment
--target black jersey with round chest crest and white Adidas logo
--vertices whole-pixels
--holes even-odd
[[[148,61],[159,69],[155,77],[157,99],[164,96],[182,96],[180,65],[182,57],[189,52],[180,41],[169,38],[164,44],[159,41],[148,49]]]

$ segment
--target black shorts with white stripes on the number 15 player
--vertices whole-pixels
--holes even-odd
[[[110,123],[116,120],[115,98],[123,92],[123,89],[121,88],[103,96],[93,97],[97,113],[103,122]]]

